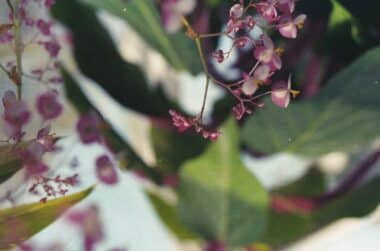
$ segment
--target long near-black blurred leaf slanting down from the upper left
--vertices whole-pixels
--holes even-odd
[[[52,13],[73,33],[80,70],[119,103],[151,116],[175,107],[162,91],[149,88],[139,67],[121,58],[92,8],[77,0],[59,0]]]

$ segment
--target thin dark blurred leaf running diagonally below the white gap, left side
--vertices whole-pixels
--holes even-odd
[[[64,78],[66,96],[77,109],[77,111],[81,114],[84,114],[89,111],[97,110],[88,100],[87,96],[83,93],[79,84],[69,75],[69,73],[63,69],[62,75]],[[155,169],[145,164],[145,162],[138,156],[132,147],[113,130],[112,126],[107,123],[104,118],[103,122],[103,133],[107,138],[107,142],[114,152],[122,154],[122,156],[119,157],[125,160],[127,167],[130,169],[142,170],[145,175],[158,182],[159,175]]]

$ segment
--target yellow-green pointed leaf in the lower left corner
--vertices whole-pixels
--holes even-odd
[[[93,187],[46,203],[37,202],[0,210],[0,249],[10,248],[38,233],[92,190]]]

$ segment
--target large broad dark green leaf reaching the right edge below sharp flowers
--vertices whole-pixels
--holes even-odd
[[[242,141],[265,153],[318,156],[351,151],[380,136],[380,48],[338,73],[321,93],[286,110],[270,102],[244,125]]]

